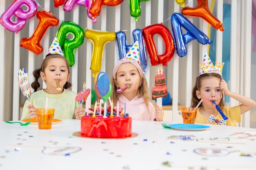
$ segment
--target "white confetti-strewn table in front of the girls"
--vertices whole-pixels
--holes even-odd
[[[164,129],[161,123],[174,124],[132,121],[132,132],[137,137],[94,139],[73,135],[80,131],[80,120],[75,119],[53,124],[50,130],[2,121],[0,170],[256,170],[256,140],[252,140],[256,137],[232,135],[236,132],[256,135],[256,129],[210,125],[207,130],[184,131]],[[193,135],[198,141],[170,139],[180,135]],[[67,154],[67,147],[81,150]],[[217,156],[194,151],[204,148],[206,153],[213,150]],[[50,150],[62,155],[45,153]]]

